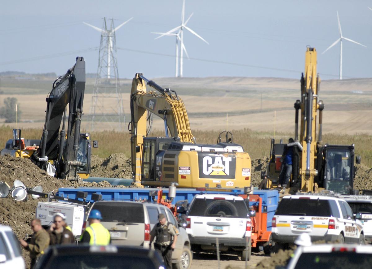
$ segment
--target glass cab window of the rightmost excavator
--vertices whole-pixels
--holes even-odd
[[[349,149],[327,150],[326,188],[341,194],[350,193],[352,158]]]

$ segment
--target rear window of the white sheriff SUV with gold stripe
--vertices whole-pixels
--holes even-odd
[[[282,199],[275,215],[330,217],[328,200],[317,199]]]

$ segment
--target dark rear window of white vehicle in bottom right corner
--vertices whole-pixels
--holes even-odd
[[[295,269],[370,268],[372,255],[356,252],[302,253]]]

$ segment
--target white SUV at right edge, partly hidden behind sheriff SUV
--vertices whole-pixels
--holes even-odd
[[[344,195],[342,198],[350,205],[354,215],[360,214],[366,243],[372,243],[372,197],[366,195]]]

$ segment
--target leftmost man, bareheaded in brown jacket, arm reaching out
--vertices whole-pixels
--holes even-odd
[[[48,232],[41,226],[41,221],[38,218],[31,220],[31,229],[33,234],[30,243],[27,243],[23,239],[20,239],[19,242],[30,252],[30,268],[32,269],[39,257],[44,254],[44,250],[49,246],[50,238]]]

